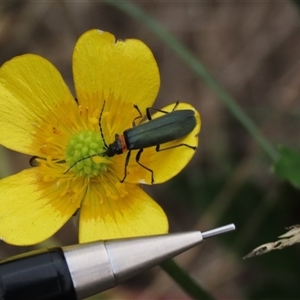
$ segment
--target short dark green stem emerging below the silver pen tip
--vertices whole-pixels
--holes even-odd
[[[177,282],[182,289],[188,293],[193,299],[213,300],[214,298],[203,290],[199,285],[180,268],[173,259],[169,259],[160,264],[160,267],[169,274],[169,276]]]

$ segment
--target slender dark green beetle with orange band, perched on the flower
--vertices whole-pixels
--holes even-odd
[[[140,157],[144,148],[155,146],[156,151],[159,152],[159,151],[169,150],[180,146],[185,146],[193,150],[196,150],[197,147],[190,146],[184,143],[180,143],[178,145],[174,145],[167,148],[161,148],[162,144],[178,140],[188,135],[193,131],[193,129],[197,124],[195,111],[192,109],[175,110],[178,104],[179,101],[176,102],[171,112],[155,109],[152,107],[146,108],[146,116],[148,121],[147,122],[141,121],[138,125],[135,124],[135,120],[139,118],[143,118],[143,115],[140,112],[138,106],[134,105],[134,108],[137,109],[137,111],[139,112],[139,116],[133,120],[133,127],[126,129],[122,135],[116,134],[114,142],[107,146],[102,132],[102,126],[101,126],[101,118],[102,118],[102,113],[105,105],[104,102],[99,117],[100,133],[105,145],[105,151],[101,153],[101,156],[112,157],[114,155],[119,155],[124,153],[125,151],[128,151],[125,159],[124,177],[121,180],[121,182],[124,182],[124,180],[126,179],[127,166],[129,163],[132,150],[138,150],[135,157],[136,162],[141,167],[151,172],[151,184],[154,183],[153,170],[140,163]],[[152,119],[151,112],[150,112],[151,110],[162,112],[165,115]]]

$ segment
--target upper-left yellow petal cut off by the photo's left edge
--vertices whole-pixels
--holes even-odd
[[[29,155],[39,155],[39,138],[49,117],[63,118],[76,106],[58,70],[46,59],[27,54],[0,69],[0,144]]]

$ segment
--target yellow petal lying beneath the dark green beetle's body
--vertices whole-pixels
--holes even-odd
[[[170,112],[173,108],[174,104],[171,104],[162,108],[162,110]],[[187,136],[162,144],[161,149],[179,144],[187,144],[193,147],[198,146],[198,134],[201,127],[200,115],[195,108],[188,103],[180,102],[176,110],[181,109],[191,109],[195,111],[196,126]],[[156,113],[153,115],[153,118],[161,115],[164,115],[164,113]],[[139,162],[153,171],[154,183],[162,183],[177,175],[188,164],[195,152],[194,149],[186,146],[179,146],[160,152],[156,152],[155,147],[145,148]],[[151,172],[137,164],[136,155],[137,151],[132,151],[127,167],[128,175],[126,177],[126,182],[151,184]],[[122,164],[123,166],[125,165],[126,154],[123,154],[122,156],[122,163],[119,162],[120,159],[118,160],[118,163],[120,170],[124,174],[124,167],[122,167]]]

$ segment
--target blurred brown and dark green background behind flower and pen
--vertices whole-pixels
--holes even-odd
[[[293,2],[133,3],[203,62],[271,143],[300,148],[300,13]],[[201,113],[200,145],[188,167],[166,184],[145,189],[166,211],[171,232],[231,222],[237,230],[178,256],[178,264],[217,299],[299,299],[299,246],[242,259],[275,241],[286,226],[300,223],[299,191],[272,174],[272,160],[253,137],[144,24],[102,1],[3,1],[0,64],[24,53],[42,55],[73,91],[73,47],[91,28],[118,39],[141,39],[150,47],[161,73],[155,107],[181,100]],[[1,149],[1,177],[28,168],[28,160]],[[61,245],[76,243],[74,221],[55,238]],[[0,259],[31,249],[1,243]],[[189,297],[156,267],[93,299]]]

